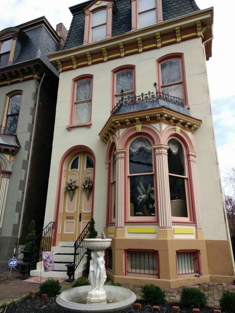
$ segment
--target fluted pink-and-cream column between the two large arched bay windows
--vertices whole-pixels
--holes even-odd
[[[159,215],[159,230],[172,230],[171,199],[168,172],[167,145],[156,145],[156,183],[157,183],[157,205]]]

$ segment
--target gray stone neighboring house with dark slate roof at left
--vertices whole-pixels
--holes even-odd
[[[60,36],[45,17],[0,31],[0,263],[44,221],[59,73],[47,53]]]

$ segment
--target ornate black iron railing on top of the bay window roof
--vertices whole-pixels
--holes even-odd
[[[139,96],[134,95],[133,97],[128,96],[126,98],[123,97],[123,90],[121,90],[121,99],[111,111],[111,115],[116,114],[122,106],[149,102],[158,99],[184,107],[183,99],[158,91],[156,83],[154,83],[153,86],[155,87],[156,92],[149,91],[147,94],[142,93]]]

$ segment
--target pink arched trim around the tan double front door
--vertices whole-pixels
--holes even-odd
[[[60,198],[61,198],[61,189],[63,189],[63,187],[61,186],[62,183],[62,172],[63,172],[63,166],[64,166],[64,162],[66,161],[66,159],[68,157],[70,157],[70,155],[72,153],[79,153],[79,152],[83,152],[86,151],[88,153],[91,154],[93,160],[94,160],[94,172],[93,172],[93,193],[95,193],[95,172],[96,172],[96,157],[95,154],[93,153],[93,151],[86,147],[86,146],[74,146],[70,149],[68,149],[63,156],[60,159],[59,162],[59,172],[58,172],[58,179],[57,179],[57,195],[56,195],[56,203],[55,203],[55,211],[54,211],[54,221],[55,221],[55,229],[54,229],[54,240],[53,240],[53,245],[56,246],[57,244],[57,236],[58,236],[58,217],[59,217],[59,203],[60,203]],[[91,216],[93,217],[94,214],[94,197],[92,198],[92,209],[91,209]]]

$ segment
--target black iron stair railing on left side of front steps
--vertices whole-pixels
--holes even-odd
[[[43,251],[51,251],[55,222],[50,222],[32,242],[30,269],[35,269]]]

